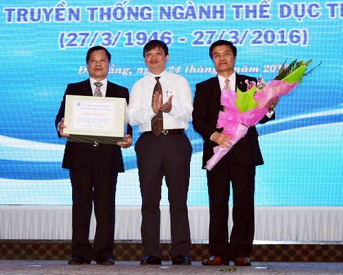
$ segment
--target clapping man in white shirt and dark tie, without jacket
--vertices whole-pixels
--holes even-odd
[[[162,41],[147,43],[143,59],[149,73],[134,83],[128,106],[128,121],[139,125],[141,132],[134,146],[142,196],[145,258],[141,265],[161,265],[159,206],[163,177],[168,187],[172,263],[191,265],[187,193],[192,147],[185,134],[193,111],[191,88],[185,77],[165,70],[169,53]],[[161,128],[154,126],[154,120]]]

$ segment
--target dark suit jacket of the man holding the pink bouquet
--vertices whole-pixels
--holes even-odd
[[[239,90],[245,92],[247,90],[246,80],[257,82],[255,77],[236,74],[235,90],[239,88]],[[196,84],[192,123],[194,130],[196,130],[204,140],[204,152],[202,156],[203,167],[211,156],[213,156],[213,147],[217,146],[217,143],[210,140],[211,135],[214,132],[222,132],[223,130],[223,128],[216,128],[219,112],[220,110],[223,110],[223,106],[220,104],[221,93],[222,91],[220,90],[217,76]],[[274,119],[274,115],[271,118],[268,118],[267,116],[263,117],[259,123],[265,123],[270,119]],[[243,139],[240,139],[230,150],[235,154],[241,165],[263,164],[258,136],[259,134],[257,133],[255,126],[252,126],[248,129],[246,136],[244,136]]]

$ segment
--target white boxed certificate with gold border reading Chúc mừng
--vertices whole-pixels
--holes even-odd
[[[121,97],[66,95],[63,132],[72,142],[116,144],[126,134],[127,109]]]

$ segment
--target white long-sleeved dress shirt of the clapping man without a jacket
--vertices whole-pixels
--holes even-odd
[[[156,84],[155,77],[161,76],[162,101],[167,102],[170,95],[171,111],[163,112],[163,129],[185,129],[192,119],[193,99],[189,83],[181,75],[163,71],[160,75],[148,73],[134,83],[128,105],[128,122],[139,125],[139,132],[151,131],[151,119],[156,115],[152,110],[152,92]]]

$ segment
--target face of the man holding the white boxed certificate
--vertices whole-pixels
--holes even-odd
[[[107,77],[109,64],[106,51],[103,49],[93,51],[86,64],[89,76],[97,81],[104,80]]]

